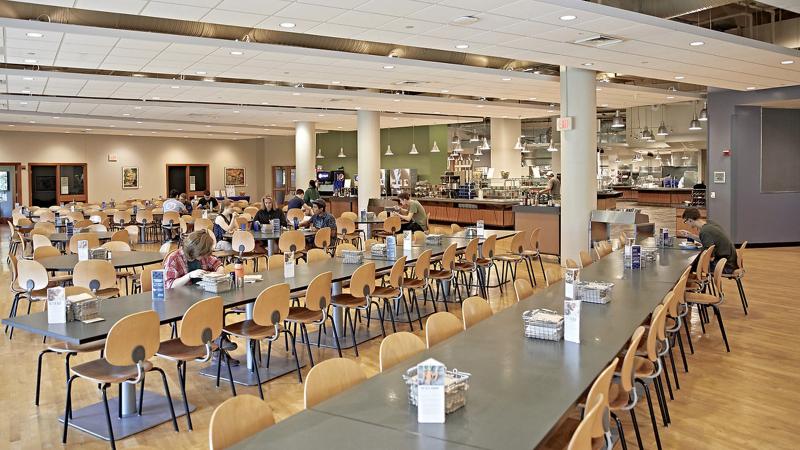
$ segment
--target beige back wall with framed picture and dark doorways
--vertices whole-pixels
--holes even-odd
[[[108,155],[117,155],[109,162]],[[89,200],[166,195],[166,164],[209,164],[211,189],[224,189],[225,167],[245,167],[247,186],[260,198],[272,186],[273,165],[294,163],[292,136],[213,140],[61,133],[0,132],[0,161],[88,164]],[[139,189],[122,189],[122,167],[139,167]],[[29,202],[28,173],[22,171],[22,199]]]

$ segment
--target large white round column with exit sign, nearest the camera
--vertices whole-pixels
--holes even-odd
[[[561,67],[561,258],[577,259],[589,248],[590,215],[597,208],[597,96],[595,73]]]

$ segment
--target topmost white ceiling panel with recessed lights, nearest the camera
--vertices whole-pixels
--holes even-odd
[[[686,83],[728,89],[800,83],[800,52],[796,50],[582,0],[33,0],[30,3],[449,51],[455,51],[457,44],[467,44],[469,48],[463,51],[470,53],[576,67],[591,63],[592,69],[601,71],[664,80],[682,76]],[[453,23],[466,15],[479,20],[466,26]],[[576,19],[560,20],[566,15]],[[296,26],[281,28],[284,22]],[[620,37],[624,42],[602,49],[574,44],[598,33]],[[689,45],[696,41],[704,45]],[[119,64],[136,57],[125,52],[117,56]],[[780,64],[787,59],[796,62]],[[170,67],[178,66],[176,61]]]

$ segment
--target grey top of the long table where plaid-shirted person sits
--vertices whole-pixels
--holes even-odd
[[[459,242],[459,247],[464,247],[466,241]],[[434,255],[440,255],[447,248],[446,245],[429,246],[433,250]],[[419,249],[422,250],[422,249]],[[112,252],[113,258],[120,252]],[[155,253],[157,252],[131,252],[131,253]],[[416,258],[421,251],[415,253]],[[74,258],[73,261],[77,262],[75,255],[56,256],[53,258]],[[413,261],[410,260],[410,261]],[[74,267],[75,262],[70,269]],[[374,261],[375,269],[378,271],[391,268],[394,261]],[[140,265],[140,264],[136,264]],[[34,334],[43,336],[50,336],[58,340],[67,341],[73,344],[85,344],[100,339],[104,339],[119,319],[139,311],[155,310],[161,319],[162,324],[175,322],[183,317],[186,310],[199,300],[219,295],[222,297],[223,303],[226,308],[241,306],[250,303],[258,297],[264,289],[273,284],[288,283],[292,292],[305,290],[311,281],[323,272],[330,271],[332,273],[333,282],[342,282],[349,280],[353,272],[358,268],[358,264],[343,264],[339,258],[331,258],[325,261],[315,261],[309,264],[303,264],[295,267],[294,278],[284,278],[282,270],[273,270],[261,272],[262,281],[256,283],[245,284],[244,287],[239,289],[232,289],[230,291],[213,294],[205,292],[197,286],[184,286],[174,289],[167,289],[165,292],[164,300],[152,299],[150,292],[141,294],[128,295],[125,297],[115,298],[111,300],[103,300],[100,302],[100,317],[105,320],[93,324],[84,324],[82,322],[69,322],[66,324],[48,324],[47,313],[34,313],[25,316],[17,316],[15,318],[3,319],[3,324],[9,324],[15,328],[25,330]],[[47,267],[47,265],[45,266]],[[66,269],[48,269],[48,270],[66,270]]]

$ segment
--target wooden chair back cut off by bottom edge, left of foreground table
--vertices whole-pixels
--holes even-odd
[[[210,450],[225,450],[275,424],[272,408],[252,395],[222,402],[211,414],[208,426]]]

